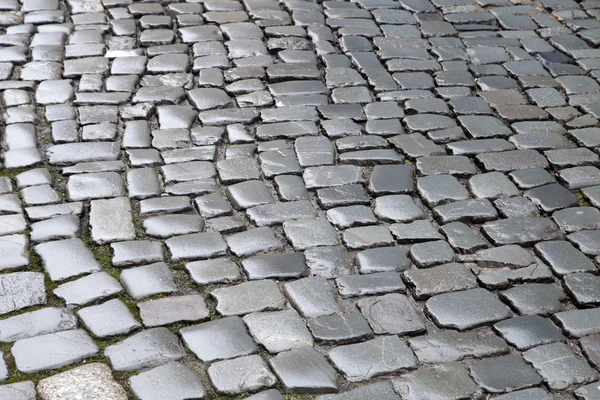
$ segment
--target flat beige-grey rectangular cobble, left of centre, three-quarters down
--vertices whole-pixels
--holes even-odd
[[[224,316],[280,310],[285,303],[277,283],[267,279],[215,289],[211,295],[217,300],[217,311]]]

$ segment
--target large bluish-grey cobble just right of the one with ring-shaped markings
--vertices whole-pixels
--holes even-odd
[[[427,300],[425,308],[438,326],[461,331],[511,316],[509,308],[485,289],[439,294]]]

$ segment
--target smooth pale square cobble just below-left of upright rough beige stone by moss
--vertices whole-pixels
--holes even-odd
[[[56,240],[38,244],[44,269],[53,281],[100,271],[101,267],[81,239]]]

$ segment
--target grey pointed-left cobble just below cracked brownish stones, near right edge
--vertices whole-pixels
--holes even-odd
[[[500,293],[500,297],[521,315],[554,314],[564,309],[567,296],[561,288],[545,283],[525,283]]]

